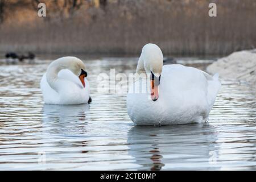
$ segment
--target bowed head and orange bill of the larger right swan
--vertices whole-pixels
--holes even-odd
[[[158,100],[158,86],[163,69],[163,53],[156,44],[146,44],[142,48],[142,59],[147,75],[150,75],[151,99]]]

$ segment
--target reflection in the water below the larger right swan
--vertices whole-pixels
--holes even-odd
[[[216,140],[212,127],[204,123],[134,126],[128,133],[127,143],[129,155],[142,170],[217,169]]]

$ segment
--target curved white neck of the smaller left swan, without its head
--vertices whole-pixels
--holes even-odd
[[[61,71],[61,69],[68,69],[68,67],[65,63],[61,63],[61,61],[55,61],[49,65],[46,73],[46,79],[49,86],[51,86],[51,88],[56,92],[58,92],[58,87],[56,84],[60,79],[58,78],[58,73]]]

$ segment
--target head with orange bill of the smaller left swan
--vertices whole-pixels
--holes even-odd
[[[68,62],[67,68],[72,71],[76,76],[79,77],[79,80],[82,83],[82,86],[85,88],[84,78],[87,77],[87,72],[85,71],[85,65],[77,57],[69,57],[70,61]]]

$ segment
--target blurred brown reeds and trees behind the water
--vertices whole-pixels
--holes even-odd
[[[255,0],[0,0],[0,53],[228,55],[255,48],[255,18]]]

